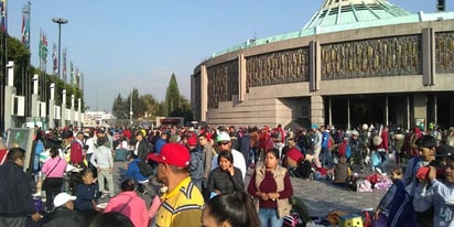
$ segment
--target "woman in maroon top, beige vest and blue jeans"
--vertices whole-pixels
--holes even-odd
[[[250,179],[248,193],[253,196],[262,227],[281,227],[283,217],[290,214],[293,195],[292,183],[285,167],[279,165],[279,151],[264,152],[264,164],[256,169]]]

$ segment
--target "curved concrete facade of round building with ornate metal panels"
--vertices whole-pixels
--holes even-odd
[[[195,118],[209,125],[352,127],[374,108],[380,114],[370,122],[410,128],[423,118],[453,125],[453,24],[440,19],[332,32],[209,58],[192,76]],[[260,82],[252,82],[257,75]],[[340,120],[334,107],[339,101],[346,107]]]

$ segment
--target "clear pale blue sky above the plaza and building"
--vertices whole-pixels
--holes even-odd
[[[8,1],[8,32],[21,39],[26,0]],[[30,0],[32,65],[39,67],[42,29],[58,43],[53,18],[65,18],[62,50],[84,74],[85,106],[111,111],[114,99],[151,94],[163,100],[175,74],[180,93],[191,99],[191,75],[210,54],[248,39],[267,37],[303,28],[323,0]],[[436,0],[389,0],[410,12],[436,12]],[[446,10],[454,10],[446,1]],[[451,3],[451,4],[450,4]],[[63,63],[63,57],[62,57]],[[63,68],[63,66],[62,66]]]

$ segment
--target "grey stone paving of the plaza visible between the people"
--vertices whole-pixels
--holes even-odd
[[[248,170],[246,176],[246,186],[252,175],[252,169]],[[125,172],[125,162],[115,163],[114,182],[116,185],[116,194],[119,193],[119,184]],[[359,172],[360,176],[371,174],[369,170]],[[293,192],[295,196],[301,197],[313,217],[325,216],[329,210],[343,210],[348,213],[360,214],[361,209],[376,208],[381,197],[386,192],[375,191],[372,193],[357,193],[333,185],[326,180],[306,181],[302,179],[292,177]],[[158,186],[154,186],[155,188]],[[147,204],[151,202],[151,195],[142,196]],[[107,202],[101,199],[100,203]]]

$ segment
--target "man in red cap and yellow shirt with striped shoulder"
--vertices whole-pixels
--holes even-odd
[[[180,143],[166,143],[159,154],[149,159],[158,162],[158,182],[167,186],[155,216],[156,226],[201,226],[204,198],[188,175],[190,151]]]

